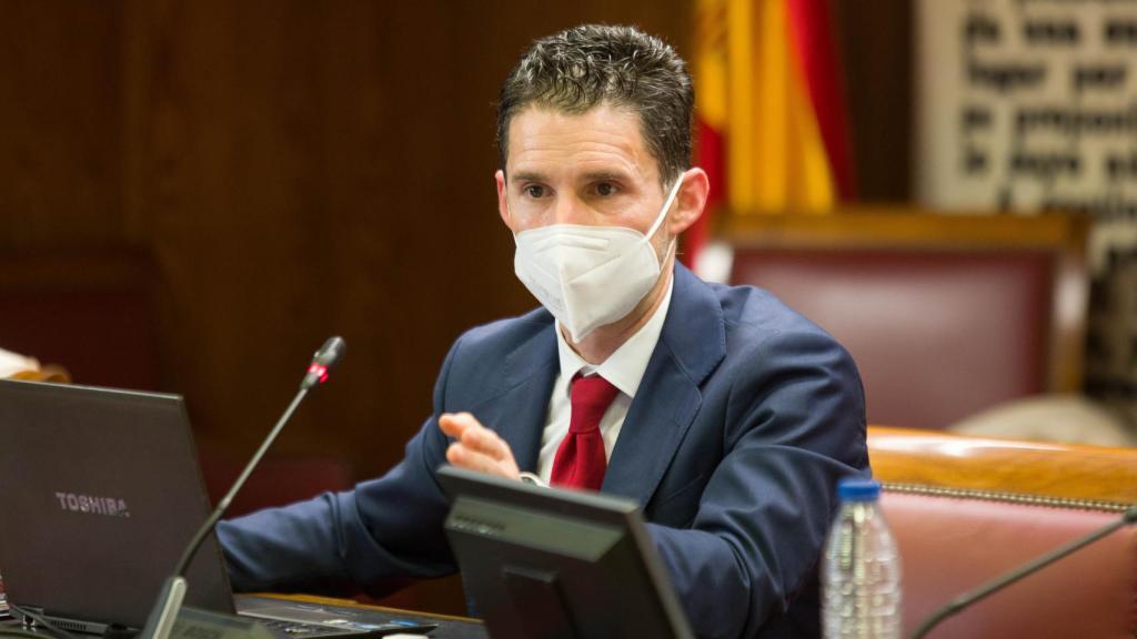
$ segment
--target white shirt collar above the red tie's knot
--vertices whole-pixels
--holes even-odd
[[[644,380],[644,373],[647,372],[647,364],[652,359],[652,352],[655,351],[655,345],[659,341],[659,333],[663,332],[663,321],[667,317],[667,308],[671,307],[671,292],[674,287],[675,277],[672,276],[671,281],[667,282],[667,291],[663,296],[663,301],[659,302],[659,307],[655,309],[647,323],[640,326],[639,331],[636,331],[599,366],[589,364],[580,355],[576,355],[576,351],[568,346],[561,332],[559,324],[554,325],[554,331],[557,334],[557,355],[561,359],[562,379],[572,380],[576,373],[584,375],[596,373],[608,380],[620,392],[628,397],[636,397],[640,381]]]

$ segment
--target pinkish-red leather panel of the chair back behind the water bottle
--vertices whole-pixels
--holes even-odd
[[[1117,512],[886,491],[904,563],[904,626],[1120,517]],[[1137,530],[1124,529],[948,619],[929,637],[1132,639]]]

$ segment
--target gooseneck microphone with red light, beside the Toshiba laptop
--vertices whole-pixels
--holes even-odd
[[[304,400],[305,396],[308,395],[308,390],[322,384],[327,381],[327,376],[332,367],[343,357],[343,351],[347,349],[347,343],[342,338],[334,337],[329,338],[324,342],[324,346],[319,347],[319,350],[312,358],[312,364],[308,365],[308,371],[304,375],[304,380],[300,382],[300,390],[292,398],[292,403],[289,407],[284,409],[284,414],[281,418],[276,421],[276,425],[273,430],[268,432],[265,441],[260,445],[260,448],[252,455],[249,463],[241,471],[241,474],[233,482],[232,488],[222,497],[217,503],[217,507],[214,508],[209,517],[206,518],[201,528],[190,540],[189,546],[185,547],[185,551],[182,553],[182,558],[179,559],[177,565],[174,567],[174,574],[166,579],[163,584],[161,592],[158,595],[158,600],[155,601],[153,608],[150,611],[150,615],[147,617],[146,626],[139,634],[140,639],[168,639],[171,630],[174,628],[174,621],[177,619],[177,612],[182,607],[182,600],[185,598],[185,571],[190,566],[190,562],[193,561],[193,556],[197,554],[198,548],[205,541],[206,537],[213,532],[214,525],[221,520],[225,511],[229,509],[230,503],[233,501],[233,497],[241,490],[244,486],[246,480],[252,474],[252,471],[260,463],[260,458],[265,456],[268,451],[268,447],[273,445],[276,440],[276,435],[281,433],[284,429],[284,424],[288,423],[289,418],[292,417],[292,413]]]

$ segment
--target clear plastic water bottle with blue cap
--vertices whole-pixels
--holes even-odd
[[[825,639],[901,638],[901,555],[880,511],[880,484],[845,479],[822,559]]]

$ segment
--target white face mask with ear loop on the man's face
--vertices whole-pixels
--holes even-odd
[[[514,271],[529,292],[579,342],[626,316],[659,280],[652,236],[663,224],[682,177],[647,234],[623,226],[553,224],[514,235]],[[508,206],[508,204],[506,205]],[[669,246],[667,252],[671,252]]]

